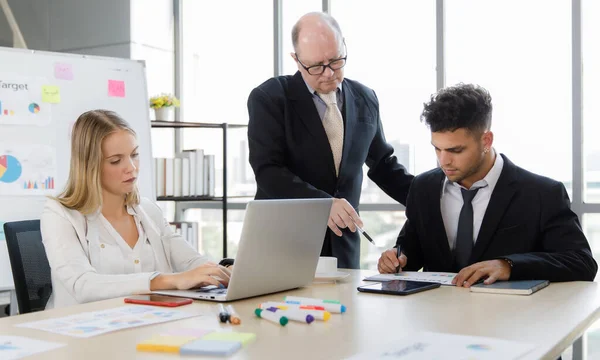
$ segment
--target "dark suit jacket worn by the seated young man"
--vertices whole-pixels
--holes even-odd
[[[593,281],[598,265],[562,183],[514,165],[504,167],[485,212],[470,264],[508,258],[511,280]],[[417,176],[397,243],[408,258],[405,270],[458,271],[440,209],[445,175]]]

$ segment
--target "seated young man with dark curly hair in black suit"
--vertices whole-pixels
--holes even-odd
[[[431,129],[439,168],[413,181],[406,223],[396,249],[382,253],[379,272],[397,266],[458,272],[453,283],[465,287],[480,279],[594,280],[598,265],[563,184],[516,166],[492,147],[485,89],[442,89],[421,119]]]

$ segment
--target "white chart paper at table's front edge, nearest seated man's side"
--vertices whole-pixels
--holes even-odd
[[[534,345],[515,341],[421,332],[349,359],[508,360],[518,359],[534,348]]]

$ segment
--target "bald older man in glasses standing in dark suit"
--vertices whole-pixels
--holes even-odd
[[[321,255],[356,269],[355,224],[363,223],[355,209],[363,165],[369,178],[402,204],[413,176],[385,140],[375,92],[344,79],[346,46],[335,19],[323,13],[303,16],[292,42],[298,72],[267,80],[248,98],[256,199],[334,198]]]

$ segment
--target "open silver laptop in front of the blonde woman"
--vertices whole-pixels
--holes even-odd
[[[230,301],[310,284],[332,203],[332,199],[250,201],[227,289],[210,286],[153,293]]]

